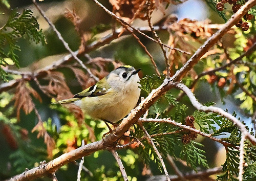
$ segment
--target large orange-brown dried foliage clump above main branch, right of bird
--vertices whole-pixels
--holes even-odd
[[[169,32],[168,46],[181,48],[187,52],[191,52],[191,50],[196,51],[197,48],[189,42],[194,41],[202,43],[202,39],[210,37],[214,31],[212,31],[210,28],[207,28],[208,24],[208,20],[196,21],[185,18],[177,21],[175,16],[169,16],[164,22],[164,25],[168,27]],[[170,50],[168,60],[171,68],[170,75],[172,76],[175,74],[175,70],[178,69],[179,63],[184,64],[187,61],[187,55],[180,54],[174,50]],[[189,74],[192,77],[196,77],[197,75],[193,70],[191,70]]]

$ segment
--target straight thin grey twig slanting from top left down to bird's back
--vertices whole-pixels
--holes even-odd
[[[85,69],[88,74],[90,75],[90,77],[92,77],[95,81],[98,81],[99,78],[96,77],[95,75],[93,75],[93,73],[90,71],[90,69],[88,69],[88,67],[86,65],[83,64],[83,62],[76,56],[76,54],[69,48],[69,44],[62,38],[61,34],[59,33],[59,31],[56,29],[55,25],[52,23],[52,21],[46,16],[45,12],[40,8],[40,6],[38,6],[38,4],[36,3],[36,0],[32,0],[33,4],[35,5],[35,7],[37,8],[37,10],[40,12],[40,14],[42,15],[42,17],[45,18],[45,20],[48,22],[48,24],[52,27],[53,31],[57,34],[59,40],[63,43],[63,45],[65,46],[65,48],[70,52],[70,54],[74,57],[74,59],[81,64],[81,66],[83,67],[83,69]]]

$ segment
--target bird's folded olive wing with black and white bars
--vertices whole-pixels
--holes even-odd
[[[106,79],[106,78],[103,78]],[[106,91],[110,88],[106,80],[101,79],[96,84],[88,87],[80,93],[77,93],[74,98],[83,98],[83,97],[96,97],[106,94]]]

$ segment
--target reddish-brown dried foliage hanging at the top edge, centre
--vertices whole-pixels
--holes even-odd
[[[150,9],[159,9],[164,13],[164,7],[167,3],[171,3],[170,0],[156,0],[150,1],[149,3],[144,4],[144,0],[109,0],[113,6],[113,13],[117,16],[127,17],[130,19],[140,18],[146,20],[147,7],[150,6]],[[140,7],[141,4],[144,4],[143,7]],[[164,5],[165,4],[165,5]],[[139,11],[138,11],[139,10]]]

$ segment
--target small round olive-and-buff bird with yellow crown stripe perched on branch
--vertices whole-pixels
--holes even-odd
[[[116,126],[115,123],[129,114],[139,100],[139,71],[130,65],[120,66],[73,98],[53,104],[74,103],[92,118]],[[110,126],[106,125],[112,132]]]

